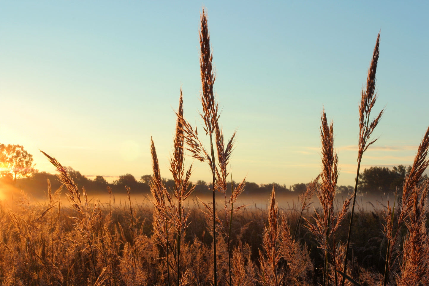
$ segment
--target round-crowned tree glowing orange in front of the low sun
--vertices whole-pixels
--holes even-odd
[[[33,155],[21,145],[0,144],[0,176],[16,179],[27,177],[37,172],[33,164]]]

